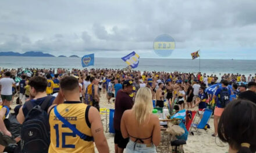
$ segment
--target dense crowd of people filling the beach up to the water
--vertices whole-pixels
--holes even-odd
[[[216,77],[201,72],[18,68],[2,69],[0,75],[0,136],[9,136],[5,138],[8,144],[15,140],[19,144],[16,151],[94,152],[95,143],[99,152],[109,152],[99,115],[102,94],[106,94],[108,103],[115,103],[115,152],[125,148],[126,152],[156,152],[161,131],[159,119],[152,114],[153,100],[155,107],[164,107],[164,101],[176,101],[178,110],[196,107],[200,114],[207,105],[214,105],[212,136],[229,143],[230,151],[256,150],[256,74],[246,78],[241,74]],[[221,87],[209,94],[206,89],[216,83]],[[5,119],[16,93],[19,105],[14,109],[15,117]],[[231,95],[237,100],[229,103]],[[251,111],[243,110],[248,107]],[[244,112],[239,121],[232,120],[234,109]],[[242,124],[246,115],[250,117]],[[33,131],[33,126],[30,129],[31,121],[40,130]],[[50,134],[31,141],[33,132]],[[232,136],[232,132],[241,132],[237,135],[243,139]],[[0,144],[0,152],[10,148],[4,142]]]

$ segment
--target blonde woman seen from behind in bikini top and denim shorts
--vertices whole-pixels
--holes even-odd
[[[121,132],[123,138],[130,138],[126,152],[157,152],[161,131],[158,116],[152,114],[152,93],[150,88],[138,89],[131,110],[123,113]]]

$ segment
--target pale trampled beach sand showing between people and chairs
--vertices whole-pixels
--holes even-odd
[[[111,99],[111,101],[113,98]],[[16,101],[16,100],[14,100]],[[101,108],[115,108],[115,104],[112,102],[111,104],[108,104],[108,100],[106,99],[106,93],[103,94],[101,92],[101,98],[99,103]],[[15,108],[16,104],[13,103],[11,105],[12,111]],[[193,110],[196,110],[197,108],[194,108]],[[104,126],[104,133],[106,140],[108,141],[109,150],[110,152],[115,152],[115,144],[114,144],[114,134],[106,132],[106,115],[101,114],[102,123]],[[197,118],[198,119],[198,118]],[[198,153],[198,152],[226,152],[228,150],[228,145],[224,144],[224,147],[219,147],[215,143],[215,137],[212,137],[211,134],[214,133],[214,118],[212,118],[209,121],[210,129],[208,129],[208,133],[206,133],[204,130],[201,130],[200,134],[197,134],[194,132],[194,136],[189,135],[187,139],[187,144],[183,146],[184,152],[189,153]],[[166,133],[162,133],[162,139],[160,145],[157,147],[157,152],[168,152],[168,146],[167,146],[167,139],[166,139]],[[219,141],[217,141],[218,144]],[[97,148],[95,147],[95,152],[98,152]]]

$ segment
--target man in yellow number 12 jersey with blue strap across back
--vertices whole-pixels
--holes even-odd
[[[60,92],[49,108],[51,144],[49,152],[109,152],[101,116],[96,108],[81,103],[78,79],[61,79]],[[64,101],[64,99],[66,101]]]

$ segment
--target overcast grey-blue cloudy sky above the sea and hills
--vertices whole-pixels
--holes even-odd
[[[168,34],[176,49],[165,58],[201,49],[201,59],[256,60],[255,8],[255,0],[1,1],[0,52],[162,58],[152,46]]]

